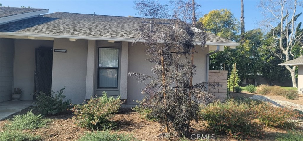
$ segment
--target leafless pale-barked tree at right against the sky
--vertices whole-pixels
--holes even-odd
[[[271,35],[271,50],[280,59],[286,61],[295,59],[298,54],[295,54],[294,47],[303,38],[303,32],[296,33],[296,20],[301,15],[297,14],[297,7],[302,7],[302,1],[289,0],[266,0],[261,1],[259,7],[265,20],[263,26],[270,28]],[[277,26],[278,25],[278,26]],[[302,50],[303,46],[300,46]],[[300,54],[300,53],[299,53]],[[301,54],[299,56],[302,56]],[[285,66],[291,74],[293,87],[297,87],[295,78],[296,66]]]

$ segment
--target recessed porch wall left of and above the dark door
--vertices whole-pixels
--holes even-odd
[[[33,100],[35,48],[53,47],[53,41],[15,39],[14,85],[22,88],[20,100]]]

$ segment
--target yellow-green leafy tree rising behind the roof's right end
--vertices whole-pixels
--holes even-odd
[[[208,14],[203,15],[197,23],[197,28],[201,29],[203,25],[206,32],[211,32],[220,37],[230,40],[236,40],[239,22],[231,11],[227,9],[212,10]],[[232,64],[235,62],[236,54],[234,49],[225,47],[224,51],[209,56],[210,70],[231,70]]]

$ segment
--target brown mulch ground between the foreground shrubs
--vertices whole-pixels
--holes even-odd
[[[27,111],[31,110],[33,107],[29,107],[24,109],[17,114],[25,114]],[[37,111],[32,111],[34,114],[37,114]],[[60,113],[56,116],[50,116],[46,118],[52,119],[52,122],[49,123],[47,127],[35,129],[35,130],[25,130],[27,133],[32,133],[35,135],[40,135],[45,141],[72,141],[77,140],[81,136],[83,136],[86,132],[91,132],[91,130],[76,127],[73,124],[72,120],[72,112],[66,111],[64,113]],[[12,116],[10,116],[12,117]],[[112,132],[118,133],[131,133],[133,136],[139,140],[144,141],[167,141],[168,139],[159,138],[159,135],[162,133],[161,125],[158,122],[146,121],[142,115],[137,112],[132,111],[131,109],[124,108],[121,109],[118,114],[113,118],[114,121],[118,123],[118,126],[112,130]],[[5,129],[5,123],[8,123],[8,120],[0,121],[0,132],[3,132]],[[205,127],[205,122],[199,121],[198,123],[192,123],[194,128],[193,134],[215,134],[216,140],[230,140],[236,141],[230,136],[213,133]],[[277,133],[286,133],[285,130],[280,129],[264,129],[264,136],[262,138],[251,138],[250,140],[273,140]],[[179,137],[174,136],[171,141],[180,140]]]

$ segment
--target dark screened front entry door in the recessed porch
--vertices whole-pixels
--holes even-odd
[[[52,88],[53,49],[36,48],[35,65],[34,92],[45,91],[48,93]]]

